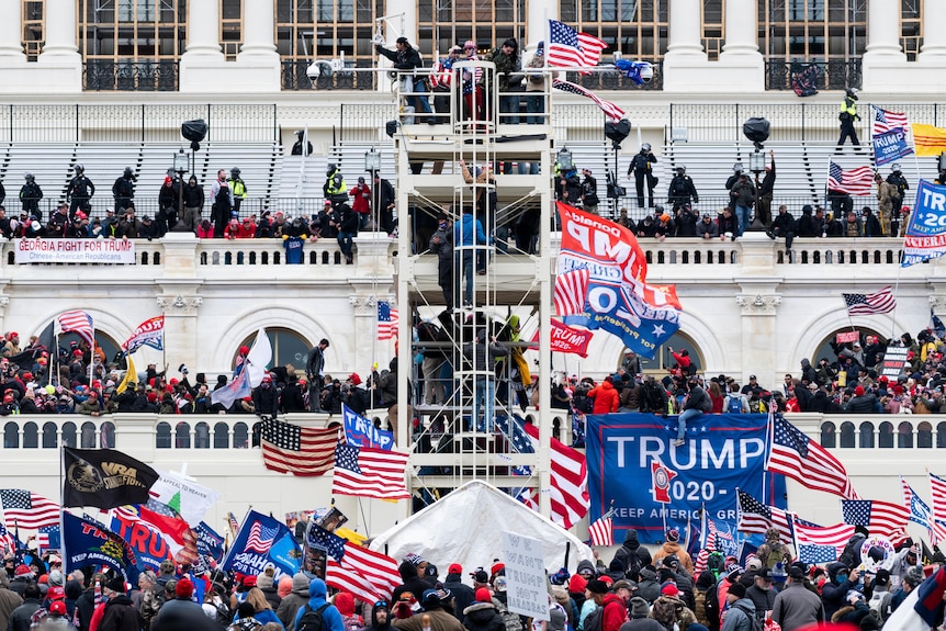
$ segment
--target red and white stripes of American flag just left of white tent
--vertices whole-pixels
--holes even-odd
[[[402,578],[394,559],[346,541],[345,555],[339,560],[328,559],[325,583],[350,591],[359,600],[374,602],[391,598]]]

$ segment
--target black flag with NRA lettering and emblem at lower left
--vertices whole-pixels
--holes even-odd
[[[148,489],[160,475],[154,469],[114,449],[65,448],[66,482],[63,506],[101,509],[147,504]]]

